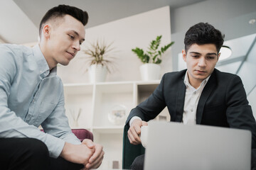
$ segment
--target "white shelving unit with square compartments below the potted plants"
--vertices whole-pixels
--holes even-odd
[[[98,84],[64,84],[65,108],[71,128],[85,128],[94,135],[94,141],[103,145],[105,158],[102,169],[112,169],[118,161],[122,168],[122,137],[124,122],[114,125],[108,114],[117,105],[125,106],[126,114],[144,101],[160,81],[125,81]],[[73,117],[80,116],[77,123]],[[72,116],[75,115],[75,116]],[[168,115],[166,111],[161,115]],[[166,117],[168,118],[168,116]],[[125,120],[124,120],[125,121]]]

